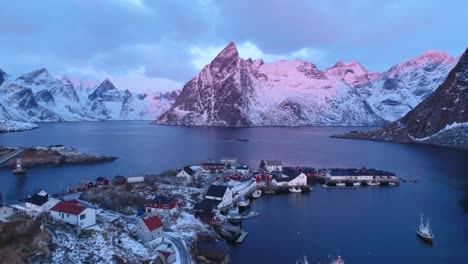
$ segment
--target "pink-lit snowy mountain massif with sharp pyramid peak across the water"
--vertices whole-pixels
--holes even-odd
[[[393,121],[445,80],[456,60],[428,52],[384,73],[357,62],[325,71],[301,60],[264,63],[230,43],[156,123],[196,126],[369,126]]]

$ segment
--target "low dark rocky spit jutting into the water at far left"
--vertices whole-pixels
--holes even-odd
[[[15,148],[0,148],[0,153],[7,153],[8,150]],[[33,167],[58,167],[66,165],[89,165],[96,163],[112,162],[117,157],[108,157],[102,155],[94,155],[81,153],[78,150],[62,145],[49,147],[29,147],[20,155],[24,168]],[[8,161],[4,167],[14,168],[16,159]]]

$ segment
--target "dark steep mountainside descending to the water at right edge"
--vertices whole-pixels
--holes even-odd
[[[467,105],[468,49],[434,93],[404,117],[384,128],[345,137],[468,149]]]

